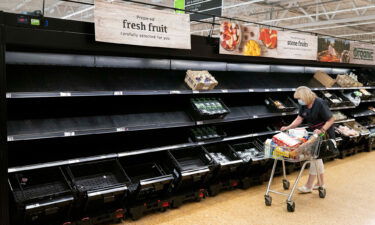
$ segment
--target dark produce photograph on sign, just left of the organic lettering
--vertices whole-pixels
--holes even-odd
[[[350,62],[350,41],[335,38],[318,38],[318,61]]]

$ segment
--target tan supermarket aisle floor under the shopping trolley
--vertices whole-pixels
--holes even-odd
[[[273,195],[271,207],[264,205],[266,184],[235,190],[183,205],[177,210],[154,213],[132,225],[354,225],[375,224],[375,152],[360,153],[326,164],[327,197],[317,192],[295,196],[296,212],[288,213],[285,198]],[[307,173],[306,173],[307,174]],[[293,174],[294,177],[296,174]],[[302,181],[306,179],[306,176]],[[280,182],[280,178],[277,179]],[[277,188],[277,185],[273,185]],[[281,185],[278,185],[281,187]],[[280,191],[282,188],[279,188]]]

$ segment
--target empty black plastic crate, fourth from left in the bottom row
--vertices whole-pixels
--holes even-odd
[[[174,191],[202,188],[217,166],[203,147],[170,150],[168,154],[175,166]]]

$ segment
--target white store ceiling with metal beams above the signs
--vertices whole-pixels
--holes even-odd
[[[174,0],[138,1],[174,5]],[[45,0],[45,15],[92,22],[93,2]],[[42,6],[43,0],[0,1],[0,10],[7,12],[41,10]],[[231,18],[375,43],[375,0],[223,0],[222,12]],[[192,22],[193,34],[207,35],[210,28],[210,24]]]

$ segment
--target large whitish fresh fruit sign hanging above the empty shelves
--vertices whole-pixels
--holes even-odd
[[[189,15],[95,1],[95,40],[117,44],[191,49]]]

